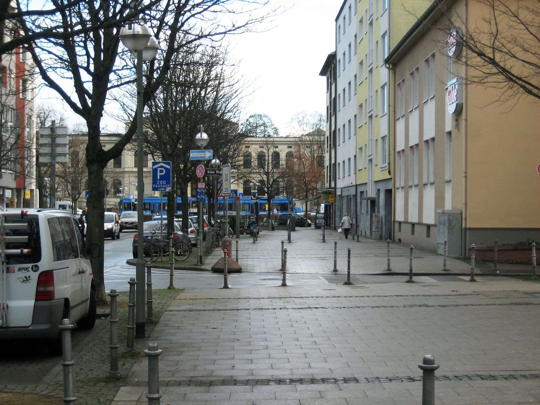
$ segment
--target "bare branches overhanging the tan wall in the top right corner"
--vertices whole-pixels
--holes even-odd
[[[501,89],[495,102],[540,99],[540,1],[475,0],[481,15],[469,25],[457,10],[437,3],[443,18],[435,28],[462,46],[455,60],[468,69],[465,83]]]

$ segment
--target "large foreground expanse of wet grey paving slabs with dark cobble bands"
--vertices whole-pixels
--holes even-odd
[[[149,340],[161,403],[421,404],[426,354],[437,404],[540,402],[540,285],[457,280],[185,291]],[[141,359],[112,404],[147,403],[146,379]]]

